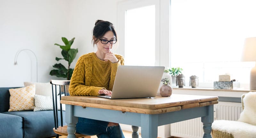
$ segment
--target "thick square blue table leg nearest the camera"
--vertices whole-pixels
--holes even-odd
[[[141,137],[157,138],[158,115],[141,114]]]

